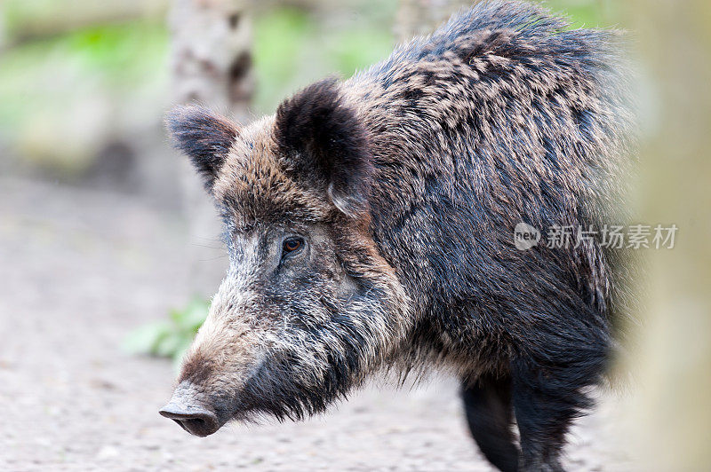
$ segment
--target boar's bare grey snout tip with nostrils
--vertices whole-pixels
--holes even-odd
[[[199,400],[196,392],[182,385],[175,389],[171,401],[158,413],[180,424],[188,433],[199,437],[210,436],[222,426],[217,414]]]

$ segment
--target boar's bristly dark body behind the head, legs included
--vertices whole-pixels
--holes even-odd
[[[518,222],[622,218],[631,120],[616,47],[614,33],[493,2],[344,87],[377,137],[372,230],[419,307],[412,355],[510,379],[527,470],[559,467],[570,421],[591,405],[585,387],[608,365],[611,320],[627,316],[619,255],[512,241]],[[490,427],[469,424],[487,457],[513,447],[491,452]]]

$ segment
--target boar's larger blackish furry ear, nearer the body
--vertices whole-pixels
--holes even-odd
[[[367,206],[372,163],[368,133],[340,95],[336,79],[309,85],[276,110],[276,142],[287,165],[323,185],[348,216]]]

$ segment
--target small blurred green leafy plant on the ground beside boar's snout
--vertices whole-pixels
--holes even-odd
[[[170,311],[168,319],[134,330],[125,338],[124,350],[133,354],[172,358],[177,365],[209,310],[209,302],[195,297],[182,310]]]

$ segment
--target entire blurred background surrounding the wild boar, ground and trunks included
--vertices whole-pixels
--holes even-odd
[[[156,413],[174,374],[164,358],[180,358],[228,264],[165,111],[199,101],[252,121],[471,3],[0,3],[0,468],[488,470],[451,379],[366,389],[323,418],[202,441]],[[709,469],[711,7],[544,4],[574,27],[630,31],[643,77],[636,213],[680,228],[677,248],[649,255],[642,387],[601,394],[567,465]]]

